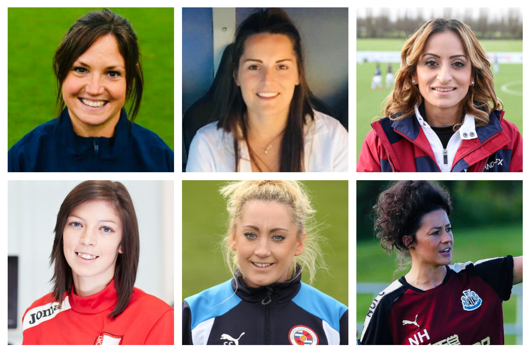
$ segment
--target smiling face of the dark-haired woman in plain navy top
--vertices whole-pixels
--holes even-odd
[[[62,91],[78,135],[112,136],[126,99],[125,61],[114,36],[99,38],[74,61]]]

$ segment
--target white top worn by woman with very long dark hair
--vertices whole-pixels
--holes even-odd
[[[314,110],[304,126],[304,171],[348,172],[348,133],[338,120]],[[234,172],[234,138],[216,127],[203,126],[190,145],[187,172]],[[239,142],[239,171],[251,172],[245,141]]]

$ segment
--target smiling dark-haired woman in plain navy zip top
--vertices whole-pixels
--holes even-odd
[[[129,21],[110,10],[84,15],[64,36],[53,64],[59,117],[11,147],[8,171],[173,172],[173,151],[132,122],[143,74]]]

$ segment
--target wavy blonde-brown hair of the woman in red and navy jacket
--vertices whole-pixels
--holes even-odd
[[[472,62],[474,86],[469,87],[465,98],[460,103],[462,116],[470,114],[474,116],[476,126],[486,126],[489,124],[491,111],[503,109],[503,103],[494,92],[491,64],[474,32],[467,24],[458,20],[432,19],[424,23],[409,37],[402,48],[400,69],[397,71],[395,87],[386,98],[387,104],[383,110],[384,117],[400,120],[414,114],[415,104],[422,103],[422,95],[418,86],[412,82],[412,74],[416,72],[418,59],[428,38],[434,33],[447,31],[457,33],[463,43],[466,55]],[[492,103],[492,106],[489,102]],[[395,115],[393,116],[393,114]],[[461,118],[461,121],[453,126],[454,131],[462,123]]]

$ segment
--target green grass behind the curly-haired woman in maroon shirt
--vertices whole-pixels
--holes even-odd
[[[453,231],[455,249],[452,263],[477,261],[493,257],[523,254],[523,225],[515,224],[500,227],[474,227]],[[388,255],[378,240],[358,241],[356,243],[356,281],[391,283],[394,279],[404,276],[408,270],[397,272],[395,254]],[[356,295],[356,322],[363,323],[373,295]],[[503,302],[503,321],[516,322],[516,296]],[[361,334],[361,329],[359,329]],[[505,335],[506,345],[515,345],[516,336]]]

